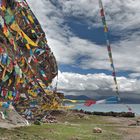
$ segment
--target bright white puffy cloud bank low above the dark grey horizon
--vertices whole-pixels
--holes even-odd
[[[104,73],[100,74],[77,74],[59,71],[58,89],[61,90],[74,90],[74,91],[87,91],[92,90],[93,93],[102,91],[113,91],[115,85],[112,76]],[[140,80],[118,77],[118,85],[120,92],[135,92],[139,93]],[[55,85],[56,79],[54,80]],[[83,93],[83,92],[82,92]]]

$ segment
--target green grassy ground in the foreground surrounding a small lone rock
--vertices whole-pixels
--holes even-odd
[[[100,116],[58,116],[59,123],[0,129],[0,140],[121,140],[122,134]],[[93,133],[94,127],[103,133]]]

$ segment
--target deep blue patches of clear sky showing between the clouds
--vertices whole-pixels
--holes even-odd
[[[74,18],[74,17],[66,17],[66,22],[64,23],[69,27],[69,30],[75,35],[82,39],[88,40],[93,42],[94,44],[101,45],[101,47],[106,47],[106,39],[104,36],[104,29],[103,27],[90,27],[89,24],[84,19]],[[114,33],[114,35],[113,35]],[[121,40],[121,35],[115,35],[117,34],[116,31],[109,31],[109,39],[110,42],[117,43]],[[86,46],[85,46],[86,47]],[[88,47],[88,46],[87,46]],[[107,50],[104,53],[108,53]],[[87,56],[77,56],[76,61],[73,65],[67,65],[67,64],[59,64],[59,69],[61,72],[75,72],[80,74],[88,74],[88,73],[106,73],[111,75],[112,71],[106,70],[106,69],[83,69],[79,67],[79,63],[88,58]],[[93,60],[94,61],[94,60]],[[132,71],[118,71],[118,76],[126,76],[132,73]]]

